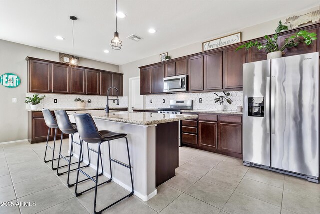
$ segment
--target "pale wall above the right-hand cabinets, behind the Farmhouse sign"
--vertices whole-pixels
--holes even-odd
[[[302,7],[303,7],[303,5],[301,5],[301,9],[303,9]],[[302,14],[305,14],[305,13],[308,13],[311,11],[315,11],[315,10],[319,10],[319,9],[320,9],[320,5],[319,5],[319,7],[304,9],[304,10],[301,10],[301,11],[296,12],[294,14],[287,14],[287,15],[285,14],[285,9],[283,9],[283,13],[282,13],[282,15],[279,15],[279,18],[276,18],[274,20],[267,21],[267,22],[264,22],[264,23],[261,23],[258,25],[246,27],[243,29],[236,29],[233,32],[225,32],[225,34],[223,34],[223,35],[212,35],[211,38],[207,38],[206,40],[210,40],[213,38],[219,38],[219,37],[229,35],[232,33],[236,33],[239,31],[242,32],[242,41],[247,41],[247,40],[251,40],[254,38],[258,38],[258,37],[263,37],[265,34],[267,34],[267,35],[274,34],[275,33],[274,30],[277,28],[279,20],[282,20],[282,24],[284,24],[286,18],[292,17],[293,15],[296,15],[296,16],[302,15]],[[261,13],[267,13],[267,12],[261,11]],[[246,15],[249,16],[249,14],[246,14]],[[172,32],[172,33],[174,34],[174,32]],[[204,41],[206,41],[206,40],[204,40]],[[182,57],[182,56],[186,56],[189,54],[201,52],[202,51],[202,42],[204,42],[204,41],[199,41],[197,43],[189,44],[184,47],[180,47],[180,48],[173,49],[173,50],[168,50],[168,55],[171,56],[172,59],[174,59],[177,57]],[[137,60],[134,62],[120,65],[119,72],[124,73],[124,80],[123,80],[124,81],[124,83],[123,83],[124,96],[129,96],[129,78],[140,76],[140,70],[138,67],[148,65],[148,64],[157,63],[157,62],[159,62],[159,55],[150,56],[150,57],[147,57],[144,59],[140,59],[140,60]],[[166,95],[163,95],[163,96],[166,96]]]

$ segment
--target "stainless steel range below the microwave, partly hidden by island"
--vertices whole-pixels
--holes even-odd
[[[158,113],[162,114],[181,114],[181,110],[193,108],[192,100],[170,100],[170,108],[159,108]],[[181,146],[181,121],[179,121],[179,146]]]

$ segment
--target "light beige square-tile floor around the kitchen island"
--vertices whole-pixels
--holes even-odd
[[[63,142],[66,154],[68,140]],[[0,213],[93,213],[94,190],[75,197],[74,187],[66,186],[67,176],[57,176],[51,164],[44,163],[44,149],[45,143],[0,145],[0,201],[14,205],[0,206]],[[91,168],[85,170],[94,173]],[[71,173],[71,182],[75,175]],[[100,178],[101,182],[107,179]],[[88,186],[93,182],[79,188]],[[132,196],[105,213],[320,213],[319,184],[188,147],[180,148],[176,176],[157,190],[147,202]],[[97,208],[127,193],[114,182],[100,186]],[[15,206],[33,201],[36,206]]]

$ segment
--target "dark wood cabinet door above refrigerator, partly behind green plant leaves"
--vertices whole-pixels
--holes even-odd
[[[309,29],[305,29],[310,33],[316,33],[317,37],[319,38],[319,28],[309,28]],[[296,31],[297,32],[297,31]],[[283,46],[284,45],[284,40],[286,38],[289,38],[290,36],[292,36],[294,33],[291,34],[286,34],[286,35],[282,35],[279,36],[278,41],[279,41],[279,46]],[[303,39],[303,38],[302,38]],[[297,55],[297,54],[306,54],[306,53],[312,53],[312,52],[316,52],[318,50],[318,44],[319,44],[319,39],[317,40],[313,40],[311,45],[306,45],[305,43],[300,43],[298,46],[296,47],[292,47],[292,48],[286,48],[283,51],[283,56],[284,57],[288,57],[288,56],[292,56],[292,55]]]

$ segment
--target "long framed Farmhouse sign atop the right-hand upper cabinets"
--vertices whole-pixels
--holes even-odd
[[[202,51],[220,48],[226,45],[232,45],[239,42],[241,42],[241,32],[203,42]]]

